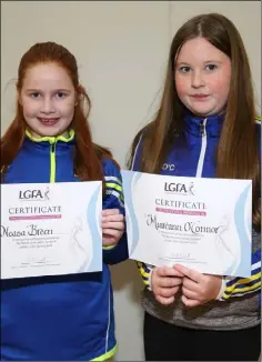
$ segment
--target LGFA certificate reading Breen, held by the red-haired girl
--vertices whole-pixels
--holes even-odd
[[[102,270],[102,183],[1,185],[1,279]]]

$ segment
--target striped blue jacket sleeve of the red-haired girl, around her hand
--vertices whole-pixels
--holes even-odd
[[[124,212],[124,199],[122,190],[122,177],[117,164],[111,160],[103,162],[105,195],[103,198],[103,210],[119,209]],[[103,247],[103,262],[105,264],[117,264],[129,258],[127,233],[124,231],[122,238],[115,245]]]

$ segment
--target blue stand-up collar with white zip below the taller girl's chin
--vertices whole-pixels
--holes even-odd
[[[223,120],[224,114],[215,114],[209,115],[206,118],[200,118],[188,112],[185,115],[185,130],[191,134],[202,137],[203,124],[205,123],[205,134],[208,137],[219,138],[221,134]]]

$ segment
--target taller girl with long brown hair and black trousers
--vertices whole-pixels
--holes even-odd
[[[138,262],[145,284],[147,361],[258,361],[260,135],[239,31],[222,14],[190,19],[173,38],[161,104],[133,141],[130,168],[175,177],[251,179],[252,275],[225,278],[179,264],[153,268]]]

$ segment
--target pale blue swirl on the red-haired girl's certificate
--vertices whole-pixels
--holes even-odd
[[[99,223],[97,221],[97,202],[100,197],[101,185],[97,188],[93,192],[87,211],[87,221],[91,231],[91,243],[92,243],[92,258],[91,261],[87,260],[80,268],[79,273],[83,273],[87,271],[97,271],[102,270],[102,241],[101,241],[101,232],[99,229]],[[101,217],[100,217],[101,218]],[[87,235],[88,238],[88,235]],[[88,240],[87,240],[88,242]]]

